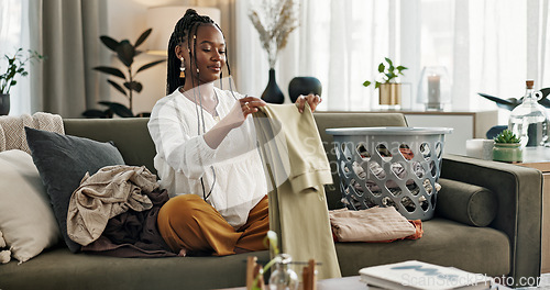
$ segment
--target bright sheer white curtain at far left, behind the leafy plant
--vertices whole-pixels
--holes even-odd
[[[30,27],[26,18],[29,11],[29,0],[2,0],[0,1],[0,74],[7,68],[4,55],[12,56],[19,47],[35,49],[30,47]],[[35,64],[36,65],[36,64]],[[31,85],[33,78],[30,71],[24,78],[16,78],[18,83],[10,90],[10,115],[19,115],[31,112]]]

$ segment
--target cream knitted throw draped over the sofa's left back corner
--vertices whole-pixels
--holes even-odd
[[[25,126],[65,134],[61,115],[36,112],[33,115],[0,116],[0,152],[20,149],[31,154],[26,144]]]

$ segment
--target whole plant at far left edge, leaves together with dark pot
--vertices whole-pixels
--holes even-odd
[[[44,59],[44,56],[31,49],[24,54],[23,48],[19,48],[13,56],[4,55],[4,58],[8,62],[8,68],[4,74],[0,75],[0,115],[10,113],[10,89],[18,83],[15,77],[26,77],[29,75],[25,69],[26,63],[33,59]]]

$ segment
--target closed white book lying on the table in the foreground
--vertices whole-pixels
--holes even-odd
[[[366,267],[359,274],[370,286],[396,290],[477,290],[491,289],[493,285],[486,275],[418,260]]]

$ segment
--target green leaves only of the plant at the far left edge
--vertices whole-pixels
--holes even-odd
[[[8,62],[8,68],[4,74],[0,75],[0,93],[10,93],[11,87],[18,83],[15,80],[18,75],[21,77],[29,75],[25,69],[29,62],[32,63],[33,59],[42,60],[45,57],[32,49],[24,54],[23,48],[19,48],[13,56],[4,55],[4,58]]]

